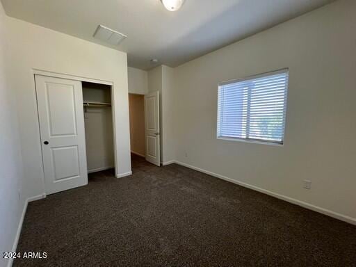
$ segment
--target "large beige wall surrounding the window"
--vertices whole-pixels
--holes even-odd
[[[175,68],[176,159],[356,223],[355,47],[340,0]],[[284,145],[216,139],[218,83],[284,67]]]

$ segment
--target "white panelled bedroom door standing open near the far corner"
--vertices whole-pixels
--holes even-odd
[[[160,165],[159,155],[159,92],[145,95],[146,160]]]

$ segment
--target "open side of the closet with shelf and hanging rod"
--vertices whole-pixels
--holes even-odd
[[[115,174],[111,86],[83,81],[82,88],[88,174]]]

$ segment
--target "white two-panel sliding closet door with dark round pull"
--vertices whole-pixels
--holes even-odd
[[[47,194],[88,184],[81,81],[35,75]]]

